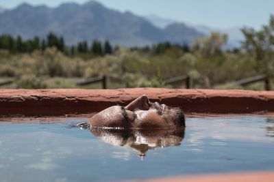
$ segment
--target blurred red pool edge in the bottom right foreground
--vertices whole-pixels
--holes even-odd
[[[213,174],[213,175],[195,175],[181,177],[164,177],[158,179],[138,179],[132,182],[272,182],[274,179],[274,171],[265,172],[235,172],[229,174]]]

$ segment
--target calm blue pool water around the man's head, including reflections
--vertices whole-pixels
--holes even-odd
[[[0,181],[119,181],[274,170],[274,117],[187,118],[184,132],[0,122]]]

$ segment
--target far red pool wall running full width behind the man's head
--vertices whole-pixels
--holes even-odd
[[[146,94],[184,112],[273,112],[274,91],[210,89],[0,89],[0,115],[64,115],[97,112],[125,105]]]

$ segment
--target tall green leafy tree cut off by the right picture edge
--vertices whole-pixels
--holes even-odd
[[[247,50],[249,55],[254,56],[257,61],[259,72],[268,77],[274,76],[274,16],[271,15],[269,25],[262,26],[256,31],[253,28],[244,27],[242,33],[245,40],[242,48]]]

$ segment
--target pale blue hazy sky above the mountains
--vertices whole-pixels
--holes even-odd
[[[86,0],[71,0],[84,3]],[[120,11],[131,11],[145,16],[154,14],[195,25],[210,27],[261,27],[274,14],[273,0],[97,0],[106,7]],[[51,7],[68,2],[66,0],[0,0],[5,8],[27,2],[32,5],[47,4]]]

